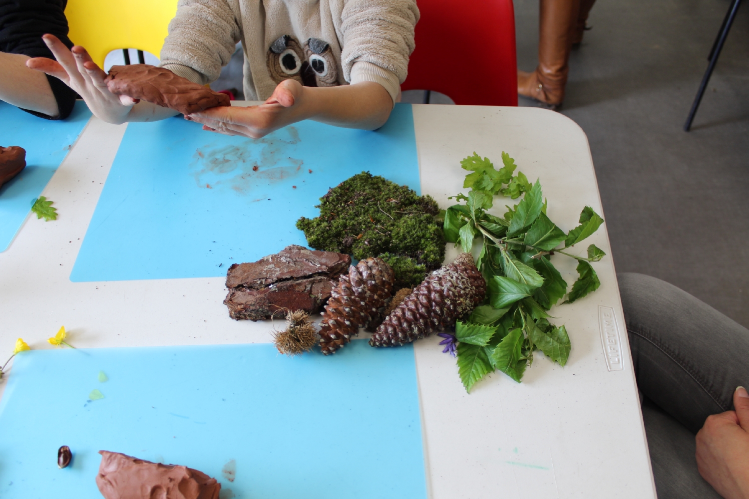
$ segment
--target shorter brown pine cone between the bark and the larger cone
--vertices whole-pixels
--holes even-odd
[[[325,355],[351,341],[360,326],[377,318],[392,293],[395,273],[380,258],[367,258],[348,268],[330,293],[320,323],[320,348]]]

